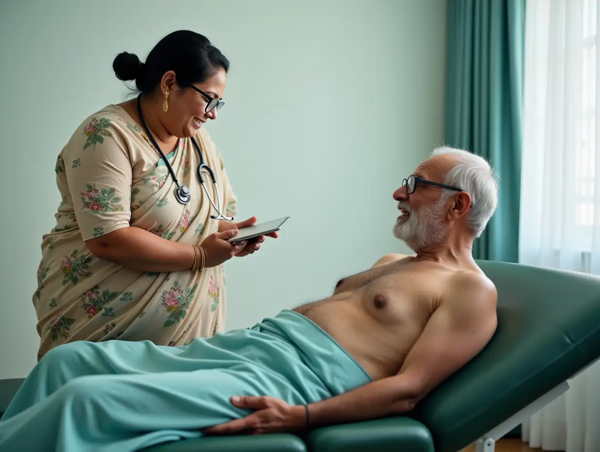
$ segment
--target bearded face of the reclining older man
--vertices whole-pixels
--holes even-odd
[[[443,160],[429,158],[413,174],[426,181],[442,183],[443,175],[448,172],[448,164]],[[419,184],[418,181],[415,182],[413,193],[409,193],[406,185],[394,191],[394,199],[398,201],[401,213],[394,224],[394,237],[404,241],[415,252],[442,242],[449,229],[444,221],[448,198],[442,197],[442,193],[442,187]]]

